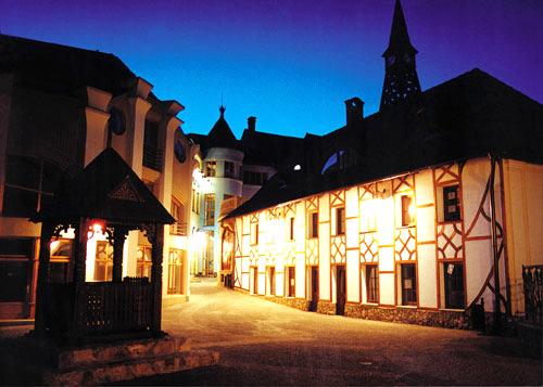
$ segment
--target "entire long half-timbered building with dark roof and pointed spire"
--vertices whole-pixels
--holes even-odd
[[[381,108],[223,221],[232,285],[303,310],[450,327],[525,313],[543,263],[543,106],[473,69],[420,90],[396,1]],[[493,312],[493,313],[492,313]]]

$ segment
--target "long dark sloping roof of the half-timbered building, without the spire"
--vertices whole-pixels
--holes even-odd
[[[475,68],[427,90],[416,103],[366,117],[356,130],[344,127],[310,139],[310,157],[333,143],[352,144],[359,157],[333,173],[323,175],[323,163],[308,162],[302,171],[281,170],[225,219],[489,153],[543,165],[543,105]]]

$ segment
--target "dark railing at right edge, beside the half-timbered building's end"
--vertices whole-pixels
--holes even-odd
[[[522,266],[525,311],[528,321],[543,323],[543,265]]]

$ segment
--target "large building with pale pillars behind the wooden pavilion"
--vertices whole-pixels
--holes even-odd
[[[163,304],[185,300],[198,147],[180,129],[177,114],[184,106],[157,100],[152,85],[113,55],[0,38],[13,61],[2,72],[0,92],[0,315],[34,317],[40,224],[28,218],[63,179],[74,177],[106,146],[124,158],[176,219],[164,232]],[[42,52],[50,53],[43,63],[33,56]],[[62,67],[60,63],[68,59],[73,66]],[[72,281],[73,237],[67,230],[51,244],[53,282]],[[150,248],[142,232],[129,232],[123,278],[150,276]],[[87,281],[111,281],[112,251],[102,230],[94,230],[87,246]]]

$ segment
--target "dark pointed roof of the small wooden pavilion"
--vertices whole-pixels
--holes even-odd
[[[123,157],[108,147],[31,219],[73,220],[81,217],[137,227],[174,223],[175,219],[148,190]]]

